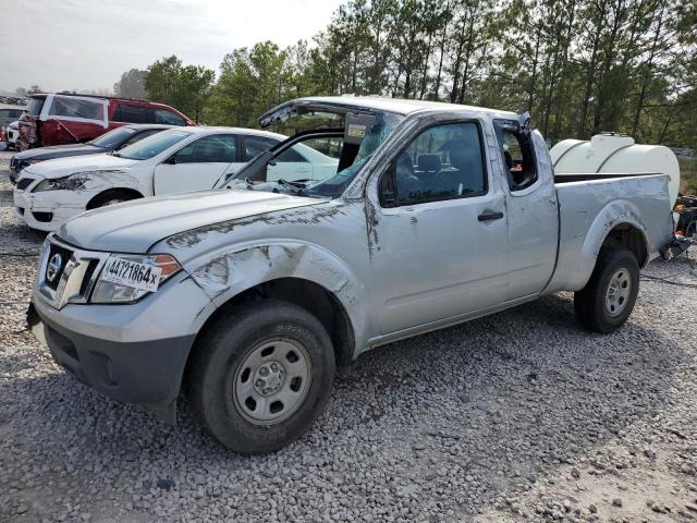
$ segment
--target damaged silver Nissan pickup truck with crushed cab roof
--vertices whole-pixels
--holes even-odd
[[[218,188],[88,211],[50,234],[33,292],[77,379],[169,421],[183,391],[234,451],[301,436],[335,365],[378,345],[562,290],[583,326],[612,332],[671,238],[667,175],[555,181],[527,114],[318,97],[260,123],[277,121],[305,131]],[[297,143],[335,172],[296,161],[270,175]]]

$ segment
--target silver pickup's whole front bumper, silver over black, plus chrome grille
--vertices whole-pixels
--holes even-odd
[[[49,242],[57,240],[49,236]],[[78,380],[174,422],[188,353],[215,305],[184,271],[136,303],[91,304],[93,283],[73,280],[98,278],[101,265],[90,273],[85,264],[107,254],[60,245],[70,256],[70,276],[65,281],[61,277],[57,291],[47,291],[50,251],[45,248],[32,295],[40,325],[33,330],[38,327],[53,360]]]

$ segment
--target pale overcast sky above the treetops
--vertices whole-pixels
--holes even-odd
[[[30,0],[0,8],[0,89],[111,89],[176,54],[215,71],[227,52],[310,39],[342,0]],[[11,8],[11,9],[8,9]]]

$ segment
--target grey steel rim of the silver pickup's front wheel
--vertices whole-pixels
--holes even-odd
[[[311,379],[313,364],[301,343],[264,341],[247,353],[235,373],[235,409],[254,425],[276,425],[299,409]]]

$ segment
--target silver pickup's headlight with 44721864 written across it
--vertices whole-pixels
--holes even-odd
[[[148,270],[149,269],[149,270]],[[169,254],[112,254],[107,258],[91,294],[93,303],[133,303],[182,269]],[[156,278],[157,277],[157,278]]]

